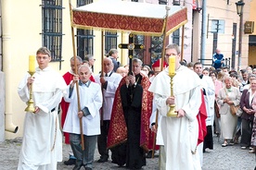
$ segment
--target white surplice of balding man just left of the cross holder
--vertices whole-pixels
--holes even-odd
[[[95,79],[96,83],[101,85],[100,74],[96,75]],[[122,76],[115,72],[109,72],[108,77],[104,77],[104,79],[108,81],[108,86],[106,90],[103,89],[103,120],[110,120],[115,93]]]

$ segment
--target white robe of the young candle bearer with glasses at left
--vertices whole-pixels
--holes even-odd
[[[27,74],[19,83],[18,93],[23,102],[29,101]],[[22,147],[19,155],[18,170],[57,169],[62,161],[62,137],[59,130],[58,103],[67,85],[58,72],[50,67],[36,68],[33,75],[32,94],[34,105],[39,113],[26,113]],[[53,109],[55,109],[53,111]]]

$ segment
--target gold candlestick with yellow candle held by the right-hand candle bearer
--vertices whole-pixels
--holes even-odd
[[[169,56],[169,76],[171,78],[171,96],[173,97],[173,77],[175,76],[175,55]],[[175,113],[175,104],[169,105],[170,109],[167,113],[167,116],[177,116]]]

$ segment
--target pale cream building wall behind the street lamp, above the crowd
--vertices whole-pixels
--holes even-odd
[[[227,1],[216,1],[209,0],[207,1],[207,15],[209,15],[209,26],[208,26],[208,38],[206,42],[206,58],[212,58],[212,46],[213,46],[213,34],[211,31],[211,20],[219,19],[224,20],[224,33],[218,33],[218,42],[217,47],[221,49],[221,52],[224,54],[225,58],[232,57],[232,35],[233,35],[233,23],[237,23],[237,42],[236,42],[236,52],[238,51],[238,30],[239,30],[239,16],[237,15],[237,6],[236,0],[230,0],[229,5]],[[250,14],[250,4],[249,0],[245,0],[244,6],[244,21],[248,20]],[[195,36],[195,35],[194,35]],[[247,34],[242,35],[242,57],[241,57],[241,67],[245,68],[248,66],[248,42],[249,36]],[[237,69],[237,60],[236,57],[235,69]]]

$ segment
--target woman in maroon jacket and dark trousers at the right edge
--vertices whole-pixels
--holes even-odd
[[[256,79],[250,81],[249,90],[245,89],[241,96],[240,108],[243,110],[242,118],[242,136],[241,149],[245,150],[250,147],[252,123],[254,119],[255,110],[252,109],[252,101],[256,91]]]

